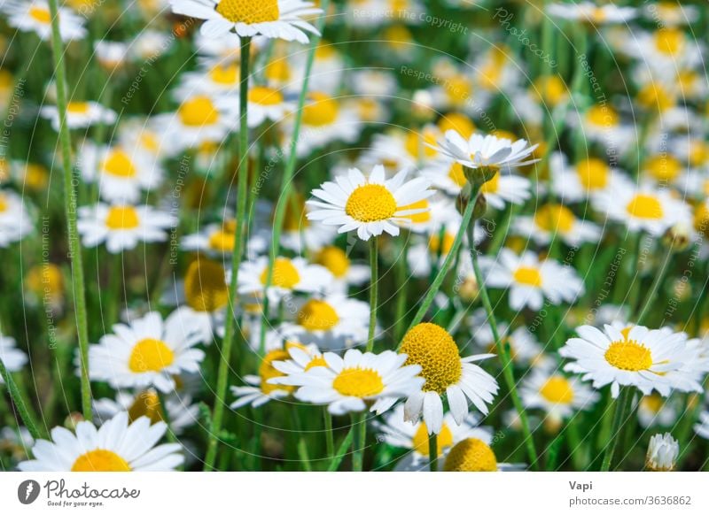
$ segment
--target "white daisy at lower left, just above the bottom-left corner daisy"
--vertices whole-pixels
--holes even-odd
[[[193,349],[199,331],[189,327],[174,311],[163,321],[152,311],[129,326],[116,324],[114,334],[106,334],[89,348],[91,380],[103,380],[113,388],[154,386],[168,393],[175,389],[174,376],[199,372],[205,353]]]

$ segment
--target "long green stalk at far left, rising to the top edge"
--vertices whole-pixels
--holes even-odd
[[[59,16],[57,0],[49,0],[51,12],[51,49],[54,58],[54,70],[57,77],[57,110],[59,116],[59,142],[61,146],[62,167],[64,168],[64,211],[66,231],[69,240],[69,254],[72,265],[72,283],[74,286],[74,312],[76,331],[79,338],[82,380],[82,412],[84,419],[92,419],[91,383],[89,380],[89,329],[86,314],[86,288],[83,279],[82,244],[76,227],[76,190],[74,188],[74,166],[69,127],[66,125],[66,69],[64,65],[64,45],[59,35]],[[77,183],[80,178],[77,176]]]

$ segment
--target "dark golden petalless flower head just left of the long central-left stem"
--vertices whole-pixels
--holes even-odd
[[[224,267],[217,261],[199,258],[184,275],[184,296],[195,311],[216,311],[227,305],[229,290]]]

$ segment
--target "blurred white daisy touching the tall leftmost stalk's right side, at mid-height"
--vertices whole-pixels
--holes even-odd
[[[105,242],[112,254],[135,249],[138,242],[165,242],[175,219],[150,205],[98,203],[79,208],[77,227],[82,242],[96,247]]]

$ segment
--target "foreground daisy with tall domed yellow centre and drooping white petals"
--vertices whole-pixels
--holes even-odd
[[[405,419],[416,422],[423,415],[429,434],[440,434],[443,427],[443,402],[456,420],[463,423],[469,412],[468,403],[487,415],[497,393],[497,381],[473,362],[487,359],[493,354],[460,357],[460,352],[450,334],[443,327],[422,323],[404,335],[400,352],[406,354],[407,365],[420,365],[423,388],[411,393],[406,400]]]

